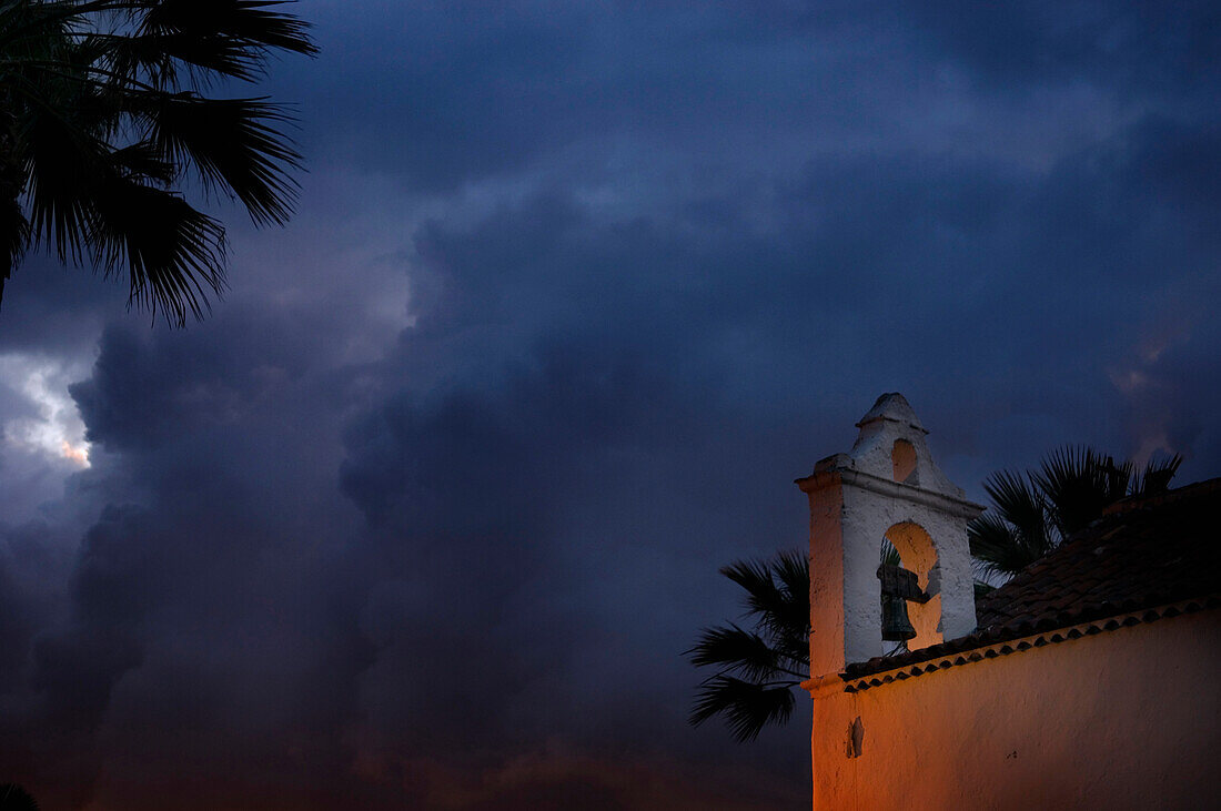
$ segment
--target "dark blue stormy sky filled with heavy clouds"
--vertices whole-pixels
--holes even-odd
[[[1065,441],[1221,474],[1216,4],[297,11],[299,212],[225,210],[211,318],[5,291],[46,807],[800,807],[808,707],[692,731],[680,652],[879,393],[977,498]]]

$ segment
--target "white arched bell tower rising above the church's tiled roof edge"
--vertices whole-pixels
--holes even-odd
[[[927,648],[976,628],[967,523],[983,512],[933,463],[916,412],[899,393],[883,394],[856,423],[847,454],[818,462],[797,485],[810,496],[810,674],[885,652],[882,639],[883,539],[930,598],[910,602],[916,638]]]

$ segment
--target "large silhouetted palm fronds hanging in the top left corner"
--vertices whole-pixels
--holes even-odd
[[[300,156],[258,80],[316,52],[281,0],[0,0],[0,295],[31,246],[126,273],[182,326],[225,287],[225,227],[183,191],[282,224]]]

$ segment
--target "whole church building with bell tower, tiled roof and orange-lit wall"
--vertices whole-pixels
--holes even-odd
[[[1221,807],[1221,479],[1112,505],[977,602],[983,507],[902,395],[857,427],[797,481],[814,810]]]

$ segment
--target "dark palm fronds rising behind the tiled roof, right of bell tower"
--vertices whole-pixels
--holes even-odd
[[[988,477],[991,509],[967,527],[971,555],[985,579],[1009,579],[1101,517],[1123,498],[1165,491],[1183,459],[1151,459],[1136,474],[1090,448],[1065,445],[1037,471]]]

